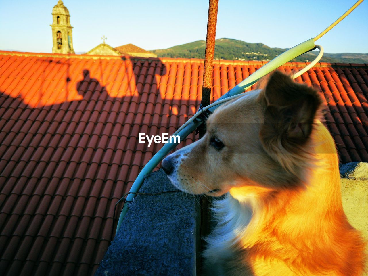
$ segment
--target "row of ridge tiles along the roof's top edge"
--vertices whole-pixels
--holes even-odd
[[[114,48],[113,48],[114,49]],[[4,56],[23,56],[23,57],[58,57],[58,58],[76,58],[76,59],[130,59],[130,60],[160,60],[162,62],[183,62],[183,63],[194,63],[201,62],[204,63],[204,59],[196,59],[196,58],[182,58],[182,57],[134,57],[128,55],[121,56],[104,56],[104,55],[89,55],[89,54],[57,54],[57,53],[33,53],[33,52],[16,52],[16,51],[3,51],[0,50],[0,55]],[[224,64],[224,65],[264,65],[268,63],[268,61],[258,61],[258,60],[213,60],[213,64]],[[296,66],[296,67],[305,67],[310,62],[296,62],[290,61],[283,66]],[[316,63],[313,67],[368,67],[368,63],[328,63],[328,62],[319,62]]]

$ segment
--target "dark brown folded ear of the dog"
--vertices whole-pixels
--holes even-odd
[[[295,153],[311,134],[321,98],[314,89],[297,84],[279,71],[270,76],[263,97],[264,123],[260,131],[263,146],[276,155]]]

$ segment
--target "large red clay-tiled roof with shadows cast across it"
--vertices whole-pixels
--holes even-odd
[[[215,61],[211,100],[261,65]],[[92,275],[114,204],[161,147],[138,133],[173,133],[198,109],[202,78],[200,59],[0,51],[0,274]],[[323,63],[296,81],[324,96],[340,162],[368,162],[368,65]]]

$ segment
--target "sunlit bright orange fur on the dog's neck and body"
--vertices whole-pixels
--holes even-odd
[[[318,152],[335,149],[326,128],[318,125],[312,139],[321,138],[328,143],[320,145]],[[240,200],[256,194],[258,204],[266,206],[258,208],[260,219],[256,225],[248,224],[254,230],[241,241],[254,275],[362,274],[365,244],[342,209],[337,155],[321,153],[317,158],[323,164],[309,172],[307,188],[278,190],[272,198],[247,187],[230,190]]]

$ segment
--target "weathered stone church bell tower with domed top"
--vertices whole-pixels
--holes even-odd
[[[52,52],[74,54],[70,14],[63,1],[59,0],[52,9]]]

